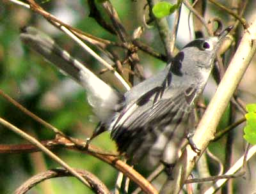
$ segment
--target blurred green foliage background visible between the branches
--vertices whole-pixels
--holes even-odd
[[[145,1],[113,0],[111,3],[113,3],[118,11],[120,19],[129,34],[132,34],[136,27],[143,25],[142,15]],[[249,4],[253,5],[253,1],[250,1]],[[45,1],[41,2],[41,5],[63,22],[67,22],[74,27],[99,36],[100,38],[116,40],[115,36],[106,32],[94,19],[89,17],[86,1]],[[209,6],[209,10],[211,10],[211,14],[214,15],[221,16],[222,14],[220,10],[216,10],[216,8],[211,5]],[[248,19],[251,17],[253,11],[255,12],[253,6],[248,6],[248,10],[246,10],[246,17]],[[227,20],[225,16],[222,16],[222,18],[223,20]],[[70,78],[65,77],[57,71],[56,68],[45,62],[44,59],[35,54],[35,52],[31,52],[20,43],[19,28],[24,25],[36,26],[47,34],[50,34],[58,41],[59,45],[74,56],[79,57],[81,61],[85,61],[86,64],[89,64],[89,68],[96,73],[99,73],[100,68],[102,68],[97,64],[95,59],[83,52],[83,50],[65,36],[65,34],[45,22],[41,16],[15,4],[7,3],[7,1],[1,1],[0,88],[5,93],[12,96],[12,98],[19,101],[24,107],[31,110],[31,112],[61,129],[61,131],[67,133],[67,135],[72,135],[72,137],[77,138],[90,137],[93,129],[97,125],[97,119],[93,117],[92,110],[85,100],[86,92],[70,80]],[[186,31],[187,34],[184,34],[182,31],[184,30],[181,29],[179,33],[178,43],[180,44],[178,47],[182,47],[184,43],[189,41],[188,31]],[[164,52],[156,29],[147,29],[143,34],[142,40],[147,41],[155,50],[162,53]],[[154,59],[142,52],[140,53],[140,59],[147,77],[164,66],[162,61]],[[255,94],[256,88],[253,87],[256,81],[255,71],[255,64],[252,63],[244,77],[240,89],[243,89],[243,91],[250,89],[250,93]],[[111,82],[111,78],[109,78],[109,82]],[[206,88],[207,96],[211,96],[214,87],[214,82],[211,81]],[[247,103],[255,102],[255,96],[252,94],[243,93],[242,97]],[[52,134],[51,131],[24,115],[3,98],[0,98],[0,116],[36,137],[40,137],[40,140],[54,138],[54,134]],[[220,128],[223,128],[225,124],[227,124],[227,122],[223,120]],[[236,142],[239,149],[241,149],[240,145],[243,144],[241,129],[242,128],[237,128],[235,132],[237,133]],[[1,144],[19,144],[24,142],[25,141],[20,137],[8,131],[6,128],[3,128],[3,126],[0,126]],[[109,140],[108,133],[100,135],[93,143],[102,147],[102,149],[115,149],[115,144]],[[225,139],[221,139],[219,142],[211,144],[210,147],[211,150],[214,151],[214,153],[218,153],[218,156],[222,159],[225,156],[225,149],[223,149],[224,144]],[[235,149],[235,151],[237,157],[243,153],[242,150]],[[67,161],[67,163],[74,168],[84,168],[93,172],[99,176],[108,188],[113,188],[115,185],[117,172],[106,163],[92,156],[87,156],[86,154],[63,149],[56,149],[54,153],[58,154],[61,159]],[[253,165],[255,165],[255,162],[252,162],[252,166]],[[49,158],[41,153],[1,154],[0,193],[13,193],[17,186],[32,175],[42,172],[45,169],[56,167],[58,167],[56,163],[49,160]],[[143,174],[148,174],[147,168],[143,168],[143,165],[136,168]],[[215,171],[215,166],[212,164],[212,174],[214,174]],[[254,187],[255,189],[255,183],[252,183],[248,178],[249,177],[247,177],[246,180],[242,178],[237,179],[236,182],[241,181],[241,184],[237,184],[237,193],[240,193],[240,191],[245,188],[250,190],[250,188]],[[49,184],[47,184],[47,186],[40,184],[40,186],[36,186],[35,189],[31,190],[30,193],[49,193],[49,191],[51,191],[51,193],[92,192],[87,190],[87,188],[74,178],[59,178],[52,180],[51,183],[50,181],[45,181],[45,183]],[[253,191],[253,189],[251,191]]]

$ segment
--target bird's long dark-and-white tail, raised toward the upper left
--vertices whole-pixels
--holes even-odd
[[[88,103],[92,106],[95,115],[103,123],[108,122],[109,117],[115,112],[116,104],[120,101],[121,95],[115,89],[108,86],[80,61],[59,47],[51,37],[35,27],[23,27],[20,40],[83,86],[88,92]]]

